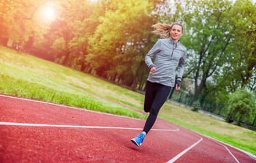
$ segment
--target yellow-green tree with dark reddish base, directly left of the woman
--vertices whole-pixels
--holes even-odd
[[[89,39],[87,60],[97,75],[128,86],[141,81],[145,48],[152,43],[151,6],[148,1],[111,1]]]

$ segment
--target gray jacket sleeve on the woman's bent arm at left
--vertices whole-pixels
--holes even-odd
[[[152,67],[155,67],[154,63],[152,62],[152,58],[154,56],[156,56],[156,54],[158,54],[158,52],[160,52],[161,50],[161,40],[159,39],[155,45],[153,46],[153,48],[150,50],[150,52],[147,53],[147,55],[145,56],[145,63],[147,64],[147,67],[149,67],[149,69],[151,69]]]

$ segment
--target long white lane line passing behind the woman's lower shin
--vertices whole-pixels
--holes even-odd
[[[105,128],[105,129],[125,129],[125,130],[143,130],[143,128],[123,128],[123,127],[107,127],[107,126],[71,126],[71,125],[56,125],[56,124],[25,124],[14,122],[0,122],[0,125],[5,126],[39,126],[39,127],[62,127],[62,128]],[[152,129],[157,131],[177,131],[168,129]]]

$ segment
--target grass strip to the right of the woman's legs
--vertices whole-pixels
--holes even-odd
[[[160,110],[159,117],[253,153],[253,155],[256,154],[256,132],[253,130],[216,120],[209,115],[202,115],[171,103],[165,103]]]

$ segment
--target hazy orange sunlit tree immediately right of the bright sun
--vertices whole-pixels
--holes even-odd
[[[100,10],[100,6],[82,0],[55,0],[53,3],[57,18],[51,23],[48,33],[36,41],[34,51],[42,55],[48,54],[55,62],[81,71],[81,67],[84,67],[81,60],[84,59],[87,46],[84,40],[89,37],[84,31],[93,28],[90,24],[85,24],[85,20],[94,11]]]

